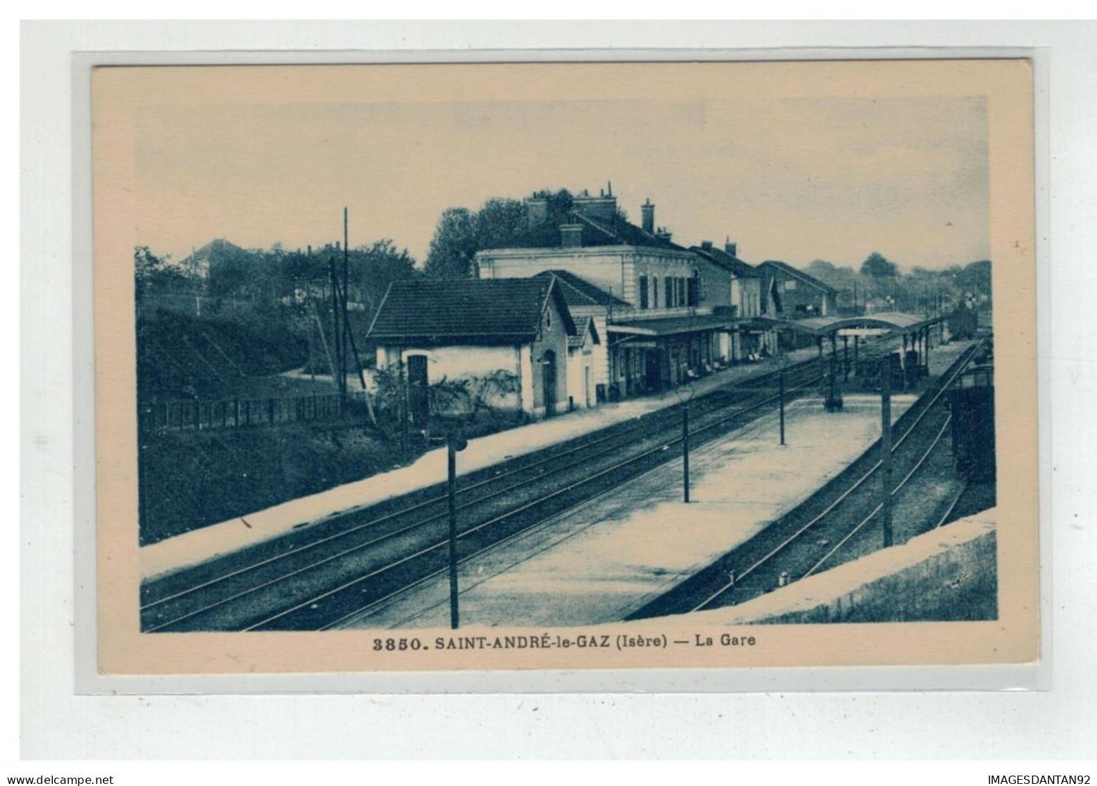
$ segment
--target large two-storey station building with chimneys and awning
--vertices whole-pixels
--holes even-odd
[[[716,260],[675,243],[656,224],[649,200],[641,206],[641,226],[622,216],[608,190],[580,193],[563,215],[550,212],[545,193],[525,206],[527,231],[507,248],[477,252],[478,275],[553,275],[567,284],[570,307],[593,318],[604,342],[595,354],[597,400],[687,383],[748,354],[745,327],[762,332],[760,323],[748,326],[756,317],[745,316],[761,310],[760,280],[747,283],[755,281],[749,265],[730,263],[724,257],[735,255],[726,249]]]

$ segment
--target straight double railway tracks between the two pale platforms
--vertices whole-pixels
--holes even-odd
[[[811,391],[822,368],[812,360],[787,369],[787,398]],[[776,372],[761,374],[691,402],[691,444],[772,410],[776,381]],[[459,479],[461,559],[675,458],[680,418],[659,410]],[[438,485],[148,582],[142,628],[324,629],[440,573],[446,546]]]

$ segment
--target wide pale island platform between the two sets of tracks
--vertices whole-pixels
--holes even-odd
[[[892,398],[898,419],[915,401]],[[462,628],[620,622],[751,537],[838,475],[880,436],[880,398],[847,395],[828,413],[819,397],[787,409],[787,445],[767,414],[681,459],[462,565]],[[445,627],[448,579],[428,582],[344,627]]]

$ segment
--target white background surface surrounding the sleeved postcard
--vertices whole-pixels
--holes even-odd
[[[27,23],[22,33],[22,510],[18,548],[8,527],[0,586],[21,597],[19,623],[4,612],[4,627],[21,634],[21,751],[3,759],[1094,756],[1094,24],[150,22]],[[516,46],[1049,47],[1051,213],[1039,226],[1053,238],[1040,277],[1041,446],[1050,451],[1041,491],[1051,500],[1054,559],[1051,691],[73,695],[70,53]],[[14,663],[4,670],[12,681],[15,673]],[[0,705],[10,716],[14,702]],[[2,742],[11,744],[14,733]]]

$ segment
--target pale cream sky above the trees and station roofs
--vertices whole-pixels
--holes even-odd
[[[320,246],[341,239],[347,206],[352,246],[391,238],[422,262],[446,207],[611,182],[635,223],[649,198],[676,242],[730,237],[748,262],[989,258],[983,96],[780,94],[735,73],[703,91],[455,82],[422,100],[165,84],[135,112],[135,237],[177,259],[219,237]]]

